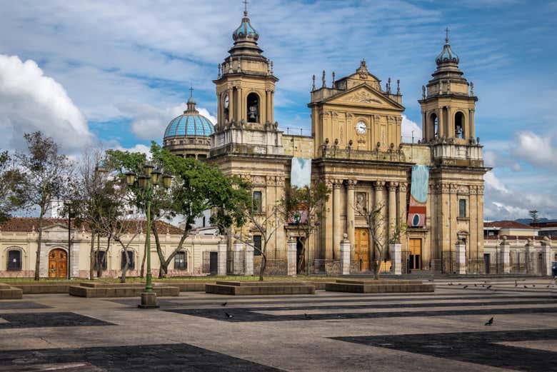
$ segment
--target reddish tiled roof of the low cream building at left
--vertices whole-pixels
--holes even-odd
[[[126,228],[126,232],[134,231],[135,224],[138,220],[124,220],[124,228]],[[76,228],[74,225],[74,220],[71,220],[71,228]],[[68,226],[68,220],[66,218],[44,218],[43,226],[51,226],[54,224],[59,224],[62,226]],[[147,221],[141,220],[141,224],[143,231],[147,229]],[[168,232],[171,234],[179,234],[181,235],[184,233],[184,230],[178,228],[170,223],[166,223],[164,221],[156,221],[157,231],[159,233],[166,233],[167,229]],[[0,231],[13,231],[13,232],[31,232],[37,231],[39,228],[39,218],[36,217],[14,217],[10,218],[7,221],[0,223]],[[86,223],[83,225],[77,226],[77,229],[81,231],[90,231],[89,226]]]

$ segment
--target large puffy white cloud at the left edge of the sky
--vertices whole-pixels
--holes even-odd
[[[0,54],[0,147],[22,149],[23,134],[43,131],[66,151],[92,144],[86,119],[61,84],[17,56]]]

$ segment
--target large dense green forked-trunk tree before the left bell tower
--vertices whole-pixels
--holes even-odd
[[[121,164],[122,174],[128,170],[141,172],[142,164],[139,163],[139,159],[138,154],[124,151],[109,153],[109,162]],[[241,226],[246,221],[246,215],[244,210],[237,206],[246,201],[249,203],[250,195],[238,178],[228,178],[216,167],[196,159],[174,156],[154,142],[151,144],[151,161],[157,168],[174,176],[169,190],[159,188],[153,193],[151,216],[154,220],[180,216],[184,221],[184,231],[180,241],[167,256],[161,248],[157,224],[151,223],[156,251],[161,263],[159,276],[164,276],[168,273],[168,266],[176,253],[183,250],[184,242],[197,216],[210,209],[215,211],[211,215],[211,223],[216,226],[226,228],[233,225]],[[134,205],[144,210],[143,193],[135,188],[130,188],[130,191]]]

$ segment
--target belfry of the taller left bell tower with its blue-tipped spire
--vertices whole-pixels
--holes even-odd
[[[216,131],[230,126],[272,127],[278,79],[273,73],[273,62],[263,56],[257,44],[259,34],[251,26],[247,8],[232,39],[234,46],[219,64],[219,75],[214,80],[219,105]]]

